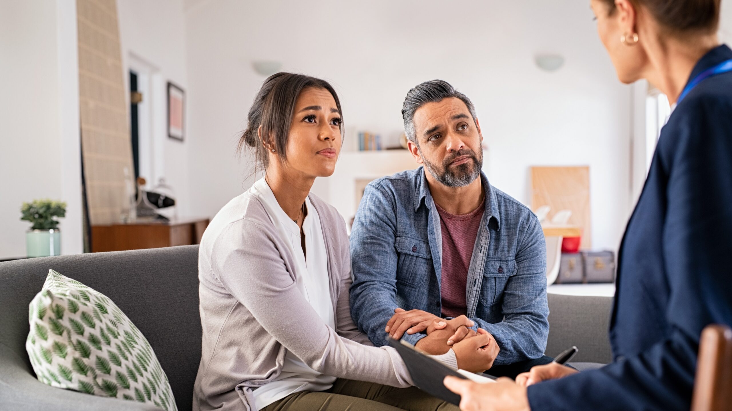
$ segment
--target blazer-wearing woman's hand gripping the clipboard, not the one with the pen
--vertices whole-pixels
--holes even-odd
[[[501,377],[496,382],[479,384],[458,377],[445,377],[444,385],[460,396],[463,411],[531,411],[526,387]]]

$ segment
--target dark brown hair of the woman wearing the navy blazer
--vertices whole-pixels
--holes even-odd
[[[615,0],[603,0],[615,12]],[[671,31],[683,33],[701,31],[712,33],[720,25],[721,0],[630,0],[635,7],[642,6]]]

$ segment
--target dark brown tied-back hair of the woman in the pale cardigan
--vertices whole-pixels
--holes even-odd
[[[278,72],[264,80],[262,88],[254,97],[247,116],[247,129],[242,133],[242,137],[239,137],[238,151],[242,151],[244,144],[253,147],[255,162],[264,169],[269,164],[269,153],[265,144],[275,148],[280,161],[287,159],[285,148],[290,136],[290,124],[292,124],[295,103],[300,93],[309,87],[329,91],[335,99],[338,111],[343,116],[338,94],[326,80],[309,75]],[[262,127],[261,139],[258,136],[260,126]],[[343,121],[340,124],[340,136],[343,137]]]

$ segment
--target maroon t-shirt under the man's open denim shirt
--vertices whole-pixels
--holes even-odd
[[[435,206],[442,231],[442,315],[458,317],[467,312],[468,269],[485,207],[481,204],[475,211],[458,216],[444,211],[437,203]]]

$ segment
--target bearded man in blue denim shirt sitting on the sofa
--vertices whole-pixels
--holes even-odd
[[[496,376],[549,363],[542,228],[488,183],[473,103],[431,80],[407,93],[402,116],[423,166],[365,189],[351,230],[351,317],[376,346],[391,336],[430,354],[480,334],[474,349]]]

